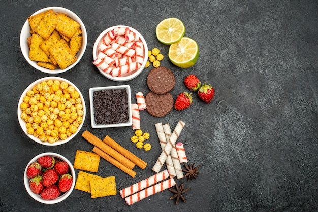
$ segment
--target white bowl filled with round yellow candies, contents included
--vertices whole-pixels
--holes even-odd
[[[69,142],[80,131],[86,107],[75,84],[60,77],[44,77],[23,91],[17,114],[23,132],[30,139],[57,146]]]

